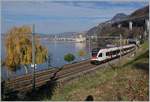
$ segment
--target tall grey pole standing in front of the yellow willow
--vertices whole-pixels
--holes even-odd
[[[32,26],[32,86],[33,90],[35,89],[35,25]]]

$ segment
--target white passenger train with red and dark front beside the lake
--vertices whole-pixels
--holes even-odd
[[[92,54],[91,63],[92,64],[104,63],[119,56],[123,56],[135,50],[135,48],[136,48],[135,44],[104,49],[94,48],[91,53]]]

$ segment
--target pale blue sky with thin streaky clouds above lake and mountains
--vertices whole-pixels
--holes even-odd
[[[117,13],[129,15],[148,5],[143,1],[8,1],[1,3],[1,30],[35,24],[35,32],[83,32],[110,20]]]

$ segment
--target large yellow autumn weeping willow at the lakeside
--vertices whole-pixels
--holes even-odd
[[[5,38],[5,65],[16,68],[21,64],[32,63],[32,29],[28,26],[13,27]],[[35,62],[43,63],[47,59],[47,48],[40,44],[40,38],[35,36]]]

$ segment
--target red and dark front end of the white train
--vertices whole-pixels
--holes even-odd
[[[91,52],[91,63],[92,64],[98,64],[99,63],[99,60],[98,60],[98,57],[97,57],[97,54],[98,54],[99,51],[100,51],[100,48],[92,49],[92,52]]]

